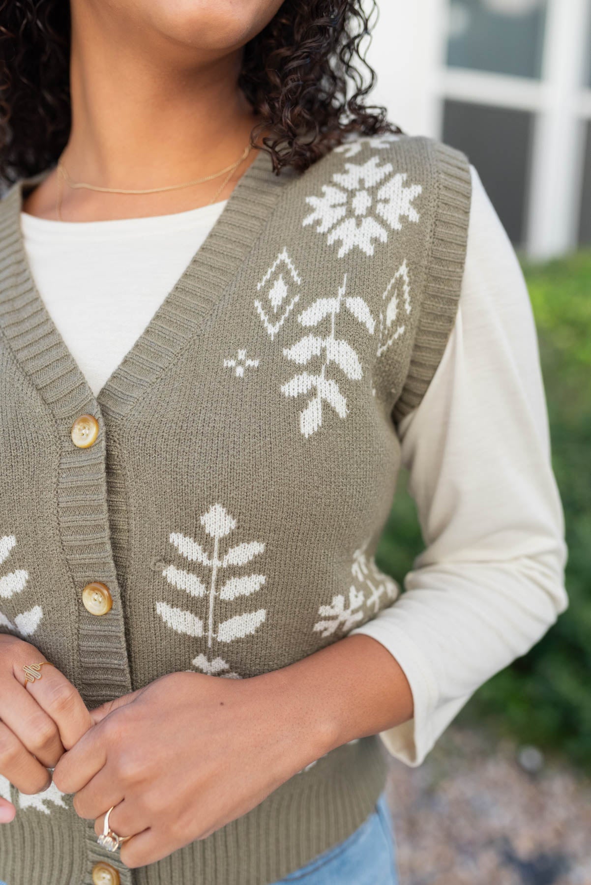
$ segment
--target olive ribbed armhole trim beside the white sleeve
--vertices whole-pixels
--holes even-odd
[[[416,409],[426,394],[456,320],[464,277],[472,198],[470,165],[461,151],[441,142],[430,143],[434,153],[435,218],[411,365],[393,410],[396,421]]]

